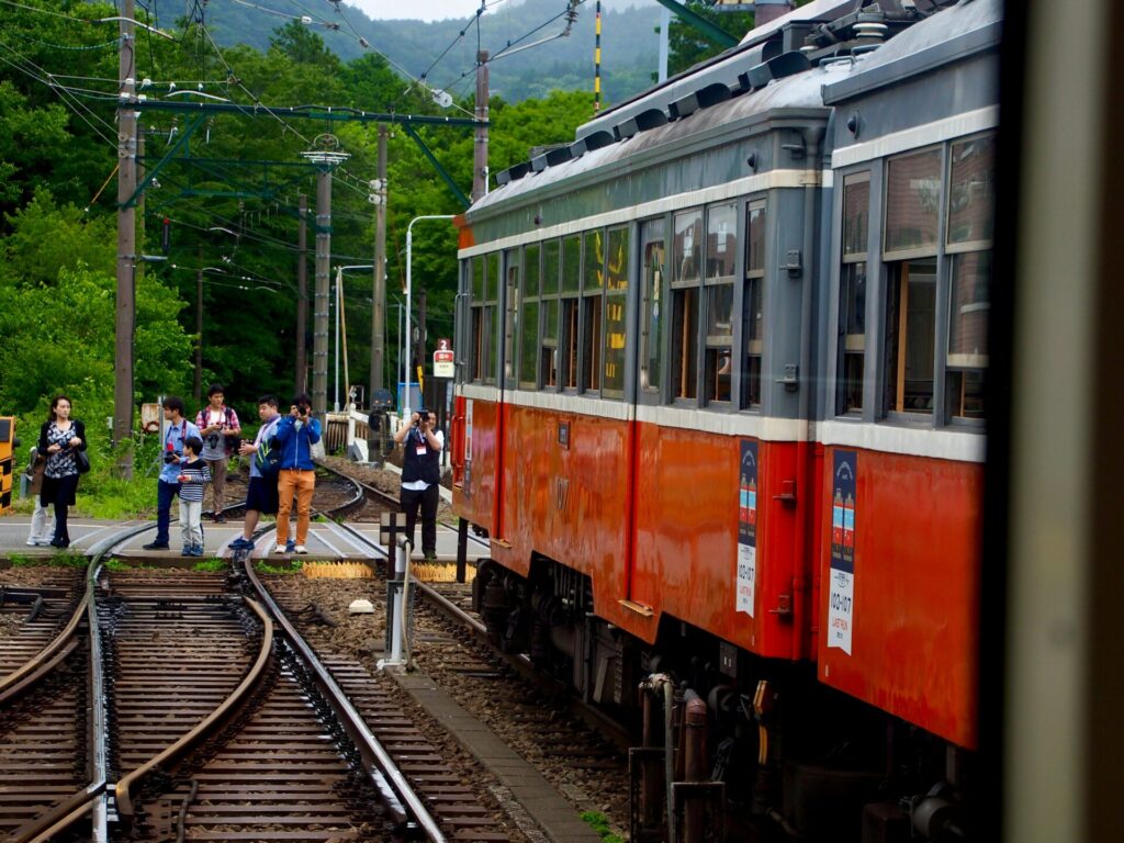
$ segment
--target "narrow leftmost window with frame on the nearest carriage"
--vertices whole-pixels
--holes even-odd
[[[851,189],[858,189],[860,193],[865,192],[865,217],[860,214],[855,223],[851,221],[847,212],[847,192]],[[874,191],[869,169],[843,174],[840,190],[840,270],[836,318],[839,342],[835,356],[836,416],[862,417],[867,404],[865,373],[870,356],[868,347],[871,282],[870,207],[873,198]],[[852,230],[852,225],[856,225],[858,230]],[[861,293],[856,292],[859,289],[861,289]],[[861,321],[861,333],[854,333],[851,329],[855,319]]]

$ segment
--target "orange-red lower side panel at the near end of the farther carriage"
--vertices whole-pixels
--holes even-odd
[[[744,437],[638,426],[636,553],[632,598],[759,655],[800,658],[796,558],[803,502],[773,496],[796,478],[804,443],[758,442],[753,613],[736,611],[738,470]],[[753,441],[753,439],[749,439]],[[799,499],[798,499],[799,500]],[[809,496],[808,501],[812,502]]]

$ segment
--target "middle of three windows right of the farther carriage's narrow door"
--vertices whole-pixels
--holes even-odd
[[[737,278],[738,262],[741,255],[741,236],[738,221],[740,202],[735,199],[729,201],[714,202],[706,207],[704,215],[704,230],[706,242],[704,245],[704,272],[703,272],[703,299],[700,301],[703,314],[703,327],[700,337],[703,341],[703,389],[700,399],[705,407],[715,409],[726,409],[733,406],[734,401],[734,325],[736,289],[734,281]],[[715,217],[722,217],[717,221]],[[724,218],[724,219],[723,219]],[[717,224],[717,228],[713,227]],[[713,239],[711,239],[713,238]],[[733,242],[731,242],[733,241]],[[720,248],[719,248],[720,246]],[[728,272],[715,272],[716,255],[724,255],[722,270]],[[726,330],[719,333],[722,323],[714,321],[714,310],[716,301],[725,299],[727,320]]]

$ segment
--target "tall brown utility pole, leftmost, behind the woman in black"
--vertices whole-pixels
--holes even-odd
[[[114,343],[114,444],[125,445],[117,471],[133,479],[133,326],[136,311],[136,208],[126,207],[137,185],[137,120],[133,99],[136,37],[134,1],[121,0],[117,75],[121,106],[117,109],[117,319]]]

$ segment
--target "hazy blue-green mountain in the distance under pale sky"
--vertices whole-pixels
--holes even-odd
[[[602,102],[620,102],[650,87],[656,70],[659,35],[655,29],[661,7],[626,3],[628,0],[602,3]],[[287,21],[269,13],[264,6],[210,3],[205,7],[206,21],[216,42],[223,46],[242,43],[265,51],[273,30]],[[464,21],[459,20],[432,24],[371,20],[359,9],[346,4],[298,6],[300,8],[289,8],[297,13],[301,8],[309,9],[312,17],[310,30],[324,38],[341,58],[347,61],[365,53],[360,43],[362,37],[404,76],[426,74],[432,88],[447,90],[457,99],[471,99],[474,94],[478,39],[479,48],[489,51],[492,56],[509,52],[509,55],[496,58],[489,71],[492,94],[508,102],[544,97],[554,90],[588,90],[592,96],[593,0],[587,0],[577,8],[577,19],[568,36],[553,38],[566,29],[565,16],[562,15],[566,9],[565,0],[502,3],[466,27]],[[341,10],[336,11],[336,8]],[[338,29],[327,28],[324,24],[337,25]],[[465,27],[463,35],[462,27]],[[552,39],[543,40],[546,38]],[[543,43],[527,47],[537,42]],[[519,47],[526,48],[516,52]],[[441,58],[435,64],[438,56]],[[382,103],[372,103],[371,107],[378,109]]]

